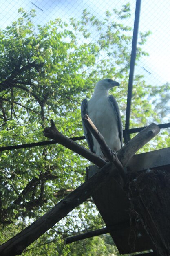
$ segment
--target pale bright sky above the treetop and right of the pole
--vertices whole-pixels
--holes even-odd
[[[79,18],[86,8],[98,18],[104,17],[106,10],[121,8],[125,0],[0,0],[0,27],[4,29],[16,20],[18,9],[26,11],[35,9],[37,16],[34,22],[43,25],[49,20],[62,18]],[[132,17],[128,24],[133,27],[136,0],[130,0]],[[36,6],[37,7],[36,7]],[[169,0],[142,0],[139,32],[152,31],[145,45],[142,46],[148,57],[142,57],[135,67],[135,74],[144,75],[147,83],[160,86],[166,82],[170,83],[170,1]],[[147,71],[148,72],[147,72]],[[150,74],[150,73],[151,74]]]

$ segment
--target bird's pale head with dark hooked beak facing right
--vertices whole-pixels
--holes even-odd
[[[114,81],[113,79],[104,78],[96,84],[94,93],[99,92],[99,91],[108,92],[114,86],[119,86],[119,85],[120,84],[118,82]]]

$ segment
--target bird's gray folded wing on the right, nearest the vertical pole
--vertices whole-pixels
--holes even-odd
[[[118,125],[118,130],[119,130],[119,138],[120,138],[121,146],[123,146],[123,127],[122,127],[122,122],[121,122],[121,115],[120,115],[119,106],[117,104],[117,101],[113,97],[113,95],[109,95],[108,98],[109,98],[109,101],[111,103],[111,106],[113,107],[113,110],[116,112],[117,125]]]

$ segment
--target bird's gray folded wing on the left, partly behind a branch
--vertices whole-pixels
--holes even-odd
[[[83,130],[84,130],[84,135],[85,135],[85,138],[86,138],[86,141],[88,143],[88,147],[90,148],[90,150],[94,153],[93,151],[93,137],[91,135],[91,132],[90,130],[88,130],[88,128],[86,127],[84,121],[83,121],[83,117],[85,114],[88,115],[88,112],[87,112],[87,105],[88,105],[88,101],[87,99],[84,99],[82,101],[82,104],[81,104],[81,117],[82,117],[82,125],[83,125]]]

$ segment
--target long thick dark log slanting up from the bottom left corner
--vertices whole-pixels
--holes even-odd
[[[53,227],[53,225],[64,218],[70,211],[75,209],[75,207],[87,200],[95,190],[99,189],[102,184],[104,184],[104,182],[113,177],[113,173],[115,173],[113,164],[108,162],[101,171],[71,192],[49,212],[44,214],[44,216],[40,217],[6,243],[0,245],[0,255],[20,255],[26,247],[37,240],[48,229]]]

